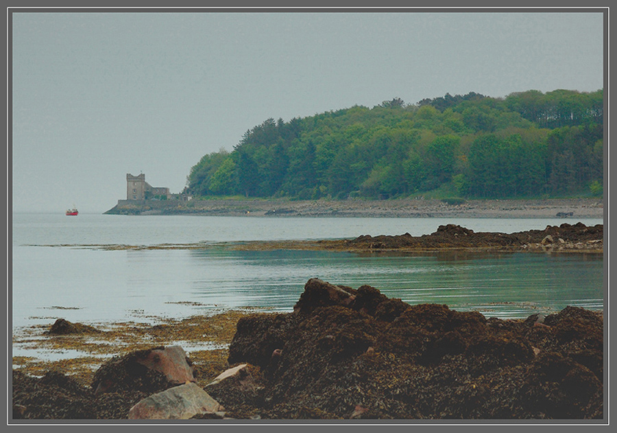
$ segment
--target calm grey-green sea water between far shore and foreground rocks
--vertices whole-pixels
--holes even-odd
[[[568,220],[574,223],[579,220]],[[582,219],[601,224],[601,219]],[[15,214],[12,326],[182,318],[217,308],[291,311],[304,283],[372,285],[408,303],[445,303],[522,318],[566,305],[603,308],[603,255],[323,251],[101,250],[93,245],[185,244],[433,233],[441,224],[513,233],[561,219],[257,218]]]

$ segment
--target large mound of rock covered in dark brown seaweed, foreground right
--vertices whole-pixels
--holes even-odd
[[[239,323],[230,363],[262,362],[263,399],[230,395],[226,407],[284,419],[603,417],[600,314],[487,320],[368,285],[306,288],[295,312]]]

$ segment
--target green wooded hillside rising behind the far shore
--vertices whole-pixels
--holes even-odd
[[[600,196],[602,184],[601,90],[395,98],[267,119],[188,176],[195,196],[298,199]]]

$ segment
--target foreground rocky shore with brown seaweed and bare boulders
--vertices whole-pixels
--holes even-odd
[[[566,307],[524,320],[487,319],[388,299],[369,285],[311,279],[293,312],[244,314],[236,323],[216,377],[181,347],[165,344],[115,356],[88,385],[61,371],[32,377],[14,369],[12,417],[203,423],[604,417],[602,312]],[[97,333],[54,325],[48,338]]]

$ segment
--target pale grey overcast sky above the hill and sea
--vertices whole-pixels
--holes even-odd
[[[470,10],[471,11],[471,10]],[[603,88],[601,12],[12,15],[14,211],[179,192],[265,119],[469,92]]]

